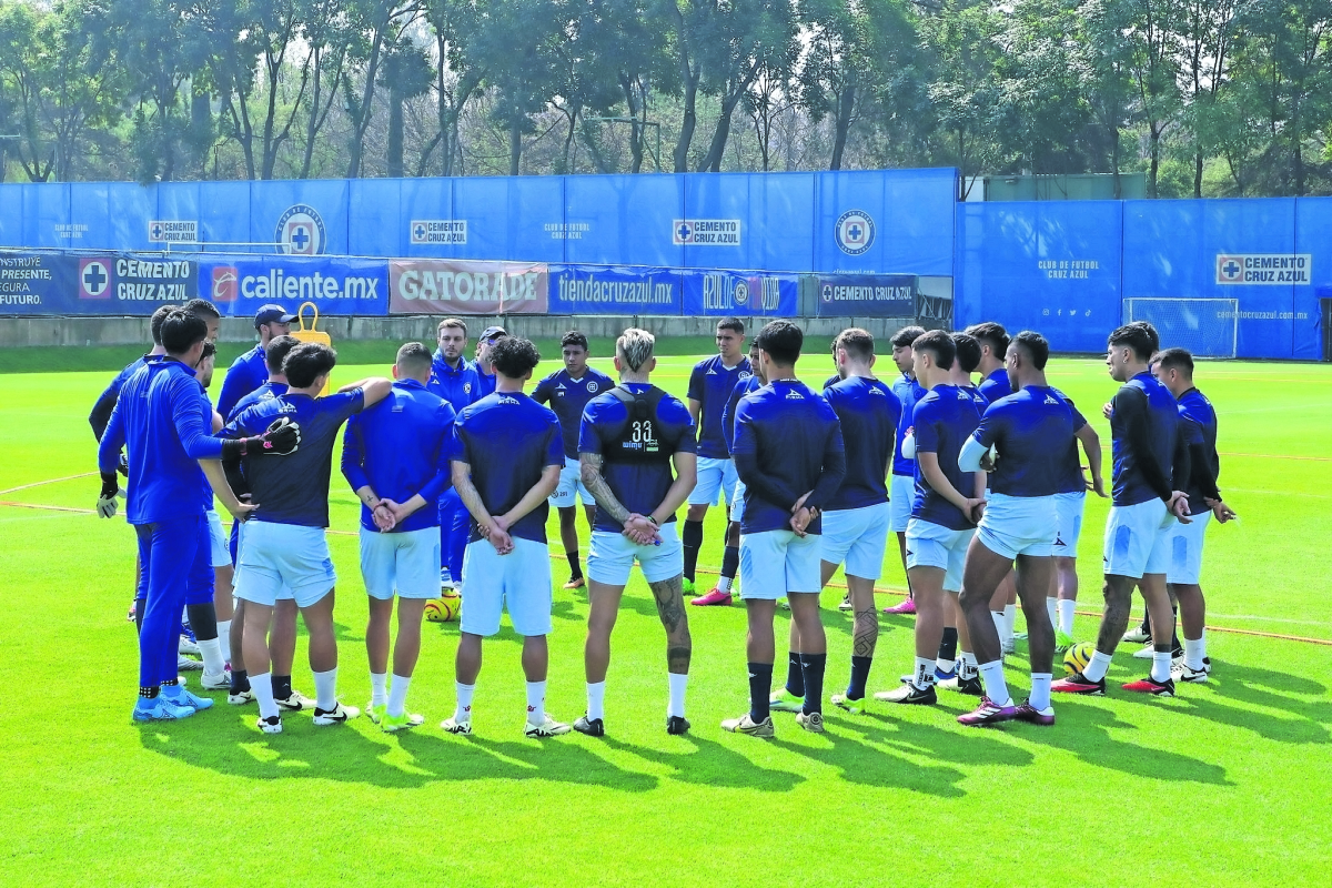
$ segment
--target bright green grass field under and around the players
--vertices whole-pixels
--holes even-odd
[[[662,358],[657,381],[683,394],[694,359]],[[803,363],[811,383],[829,371],[822,354]],[[553,367],[547,361],[541,371]],[[348,366],[337,375],[385,370]],[[384,735],[365,718],[317,730],[297,715],[285,734],[265,736],[253,707],[229,707],[218,694],[212,711],[186,722],[132,723],[133,534],[120,519],[91,514],[99,485],[87,477],[96,459],[85,417],[109,375],[4,377],[0,883],[1255,885],[1325,877],[1317,872],[1332,859],[1332,367],[1199,367],[1220,417],[1221,489],[1241,515],[1208,534],[1212,683],[1183,686],[1172,700],[1119,692],[1118,682],[1143,672],[1124,646],[1110,696],[1056,699],[1054,728],[962,728],[955,716],[972,699],[940,692],[935,708],[830,710],[826,735],[778,715],[770,742],[718,727],[746,708],[741,607],[690,608],[694,730],[665,734],[663,636],[637,575],[613,639],[605,739],[522,738],[519,644],[507,628],[486,643],[476,735],[442,734],[438,722],[454,699],[456,623],[425,632],[409,707],[425,714],[426,727],[416,732]],[[1099,406],[1115,383],[1104,367],[1058,359],[1050,375],[1108,442]],[[369,679],[356,498],[336,470],[332,499],[340,691],[362,706]],[[1086,517],[1080,638],[1096,628],[1106,510],[1092,501]],[[701,559],[710,568],[721,560],[721,534],[713,510]],[[563,559],[553,564],[562,583]],[[890,550],[882,603],[900,600],[903,584]],[[832,588],[823,596],[829,692],[848,672],[851,620],[835,610],[839,599]],[[547,706],[563,720],[583,708],[585,600],[557,588]],[[895,686],[911,666],[911,620],[884,616],[882,630],[871,690]],[[782,651],[779,643],[779,659]],[[1008,676],[1015,695],[1024,694],[1024,671],[1011,666]],[[313,691],[304,643],[296,684]]]

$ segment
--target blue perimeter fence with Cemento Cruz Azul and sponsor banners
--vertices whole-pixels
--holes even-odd
[[[1239,357],[1323,357],[1332,198],[956,194],[954,169],[3,184],[0,314],[202,294],[234,314],[939,318],[926,297],[951,297],[956,326],[1100,351],[1126,300],[1209,298],[1235,301]]]

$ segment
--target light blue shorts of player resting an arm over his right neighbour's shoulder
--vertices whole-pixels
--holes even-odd
[[[322,527],[269,521],[246,525],[236,598],[269,607],[280,598],[294,598],[297,607],[309,607],[333,591],[337,572]]]

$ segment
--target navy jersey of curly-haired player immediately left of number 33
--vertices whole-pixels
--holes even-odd
[[[493,517],[502,515],[541,481],[546,466],[565,465],[559,419],[521,391],[497,391],[477,401],[453,423],[449,458],[472,466],[472,485]],[[509,529],[509,535],[546,542],[545,499]],[[472,542],[481,539],[472,521]]]

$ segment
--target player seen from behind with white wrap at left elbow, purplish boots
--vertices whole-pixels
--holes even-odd
[[[1022,719],[1054,724],[1050,706],[1054,680],[1055,630],[1046,599],[1054,579],[1055,494],[1062,461],[1075,446],[1074,411],[1046,382],[1050,343],[1023,330],[1008,345],[1007,373],[1014,394],[986,407],[980,426],[962,447],[959,467],[980,469],[994,449],[994,477],[980,525],[967,550],[959,600],[967,616],[986,695],[974,712],[958,716],[970,726]],[[1086,421],[1083,421],[1086,423]],[[1022,611],[1031,648],[1031,696],[1014,706],[1003,674],[999,631],[988,614],[995,590],[1019,564]]]

